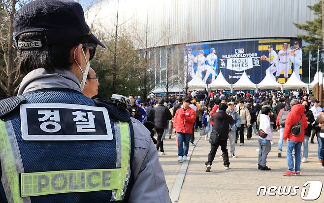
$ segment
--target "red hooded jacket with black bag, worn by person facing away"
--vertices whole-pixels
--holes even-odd
[[[305,107],[301,104],[292,106],[291,112],[288,113],[285,121],[284,140],[289,138],[292,141],[303,142],[305,135],[305,128],[307,128],[307,118],[305,115]],[[299,136],[293,136],[291,134],[292,126],[299,122],[301,119],[301,133]]]

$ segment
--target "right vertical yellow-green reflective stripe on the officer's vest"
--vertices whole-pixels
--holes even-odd
[[[121,181],[124,185],[123,189],[116,191],[116,200],[122,200],[124,198],[124,192],[130,178],[130,128],[129,124],[125,122],[119,122],[120,135],[122,142],[122,177]]]

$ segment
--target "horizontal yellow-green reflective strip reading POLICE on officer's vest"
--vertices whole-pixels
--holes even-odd
[[[87,169],[22,173],[21,196],[122,189],[123,172],[123,169]]]

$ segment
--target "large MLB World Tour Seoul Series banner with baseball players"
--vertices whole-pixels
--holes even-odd
[[[184,64],[188,80],[195,75],[209,84],[222,71],[226,80],[234,84],[245,71],[258,84],[270,71],[280,83],[293,71],[300,78],[302,49],[300,39],[231,40],[189,44]]]

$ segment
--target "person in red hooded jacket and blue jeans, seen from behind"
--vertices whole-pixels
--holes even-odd
[[[292,102],[295,102],[294,100]],[[293,105],[285,121],[284,141],[287,142],[287,138],[289,138],[289,141],[287,146],[288,170],[283,174],[284,176],[300,175],[301,144],[304,141],[305,128],[307,128],[307,118],[304,112],[305,107],[303,105]],[[301,121],[300,134],[292,135],[292,127],[299,121]],[[295,150],[295,168],[293,168],[292,150]]]

